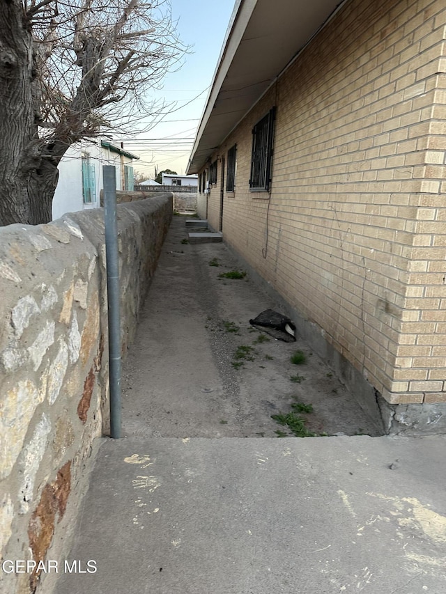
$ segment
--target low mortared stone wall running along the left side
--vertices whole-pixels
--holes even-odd
[[[171,194],[118,205],[123,355],[171,216]],[[109,430],[103,210],[2,228],[0,294],[0,552],[61,560]],[[2,594],[50,591],[45,570],[8,567]]]

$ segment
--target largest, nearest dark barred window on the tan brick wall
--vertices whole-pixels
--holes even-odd
[[[276,108],[273,107],[252,129],[249,189],[253,192],[268,192],[270,189],[275,114]]]

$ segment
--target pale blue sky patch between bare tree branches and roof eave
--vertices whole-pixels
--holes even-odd
[[[180,70],[167,74],[162,91],[151,93],[154,98],[172,104],[171,113],[148,132],[134,137],[114,137],[114,141],[124,142],[125,150],[140,157],[133,167],[134,171],[144,173],[144,177],[153,179],[155,166],[157,171],[171,169],[178,174],[186,173],[233,6],[234,0],[171,0],[180,40],[192,46]]]

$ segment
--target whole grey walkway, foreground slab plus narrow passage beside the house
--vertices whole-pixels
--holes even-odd
[[[56,594],[444,594],[445,437],[370,437],[305,343],[250,331],[275,304],[219,276],[240,268],[226,247],[184,237],[175,217],[125,363],[126,437],[100,440],[79,511],[68,558],[97,571]],[[277,439],[296,403],[346,437]]]

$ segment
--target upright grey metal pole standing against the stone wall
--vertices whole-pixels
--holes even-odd
[[[121,320],[119,302],[118,224],[116,222],[116,169],[103,165],[105,206],[105,252],[109,311],[110,437],[121,437]]]

